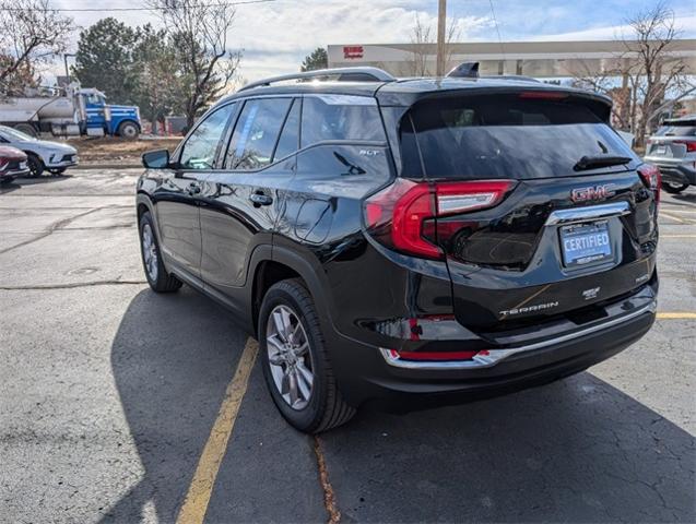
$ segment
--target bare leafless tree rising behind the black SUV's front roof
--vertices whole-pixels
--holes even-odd
[[[234,80],[240,51],[227,49],[236,11],[228,0],[149,0],[179,53],[187,126]]]

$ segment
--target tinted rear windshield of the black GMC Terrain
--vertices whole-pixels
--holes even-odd
[[[422,168],[433,179],[577,176],[582,156],[634,157],[581,102],[519,95],[418,103],[402,121],[401,140],[403,175],[414,178]]]

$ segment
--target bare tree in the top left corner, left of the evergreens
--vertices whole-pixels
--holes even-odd
[[[0,11],[0,94],[12,94],[36,80],[42,64],[64,51],[72,19],[48,0],[2,0]]]

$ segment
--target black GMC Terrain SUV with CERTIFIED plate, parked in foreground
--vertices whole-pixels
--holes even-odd
[[[143,155],[148,281],[229,308],[303,431],[567,377],[654,320],[659,170],[610,110],[373,68],[249,85]]]

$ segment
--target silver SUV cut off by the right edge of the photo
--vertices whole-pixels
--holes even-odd
[[[645,160],[660,168],[669,193],[696,186],[696,115],[665,120],[648,140]]]

